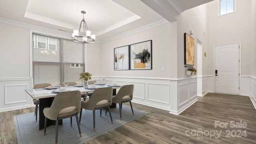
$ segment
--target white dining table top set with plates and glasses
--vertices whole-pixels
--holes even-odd
[[[89,84],[88,87],[94,86],[94,84]],[[105,85],[96,85],[97,88],[106,88],[112,86],[112,84],[105,84]],[[66,88],[66,86],[62,86],[60,88]],[[114,86],[113,89],[121,88],[121,86]],[[56,94],[52,93],[52,91],[58,90],[58,89],[52,89],[52,90],[46,90],[43,88],[36,88],[36,89],[29,89],[25,90],[33,99],[36,98],[49,98],[54,97]],[[76,86],[67,86],[67,90],[74,91],[74,90],[80,90],[80,92],[93,92],[94,89],[86,89],[84,87],[76,87]]]

